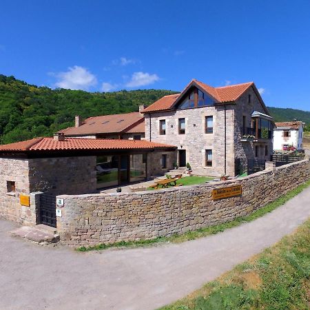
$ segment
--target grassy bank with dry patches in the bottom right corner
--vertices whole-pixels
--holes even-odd
[[[162,310],[309,309],[310,220],[273,247]]]

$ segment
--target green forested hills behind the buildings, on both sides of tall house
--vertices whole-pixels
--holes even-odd
[[[149,105],[166,94],[174,93],[171,90],[107,93],[51,90],[0,74],[0,143],[51,136],[58,130],[72,126],[77,114],[86,118],[134,112],[138,111],[138,105]],[[292,121],[296,118],[310,123],[310,112],[274,107],[269,109],[276,121]]]

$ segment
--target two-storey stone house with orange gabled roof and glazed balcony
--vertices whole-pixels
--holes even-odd
[[[273,118],[253,82],[211,87],[192,80],[145,110],[145,139],[178,147],[194,174],[235,176],[249,159],[269,160]]]

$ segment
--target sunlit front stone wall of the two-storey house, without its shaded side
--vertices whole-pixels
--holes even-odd
[[[205,116],[213,116],[213,133],[205,133]],[[232,106],[227,106],[227,174],[234,175],[234,119]],[[178,118],[185,118],[185,134],[178,134]],[[166,121],[166,134],[161,135],[159,121]],[[220,176],[224,174],[224,130],[225,110],[223,106],[198,107],[192,109],[153,113],[145,116],[145,139],[176,145],[186,151],[186,162],[194,174]],[[211,149],[212,167],[205,165],[205,150]]]

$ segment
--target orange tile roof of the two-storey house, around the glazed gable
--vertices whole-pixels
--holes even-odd
[[[251,87],[251,85],[254,85],[254,83],[249,82],[223,87],[211,87],[203,82],[193,79],[185,87],[183,92],[181,92],[180,94],[163,96],[163,98],[159,99],[152,105],[149,105],[149,107],[147,107],[145,110],[143,110],[143,113],[172,109],[174,107],[174,103],[176,102],[176,100],[180,96],[182,96],[185,92],[187,92],[189,87],[191,87],[192,85],[197,85],[198,87],[200,87],[200,89],[204,90],[209,95],[211,95],[218,103],[225,103],[236,101],[249,87]]]

